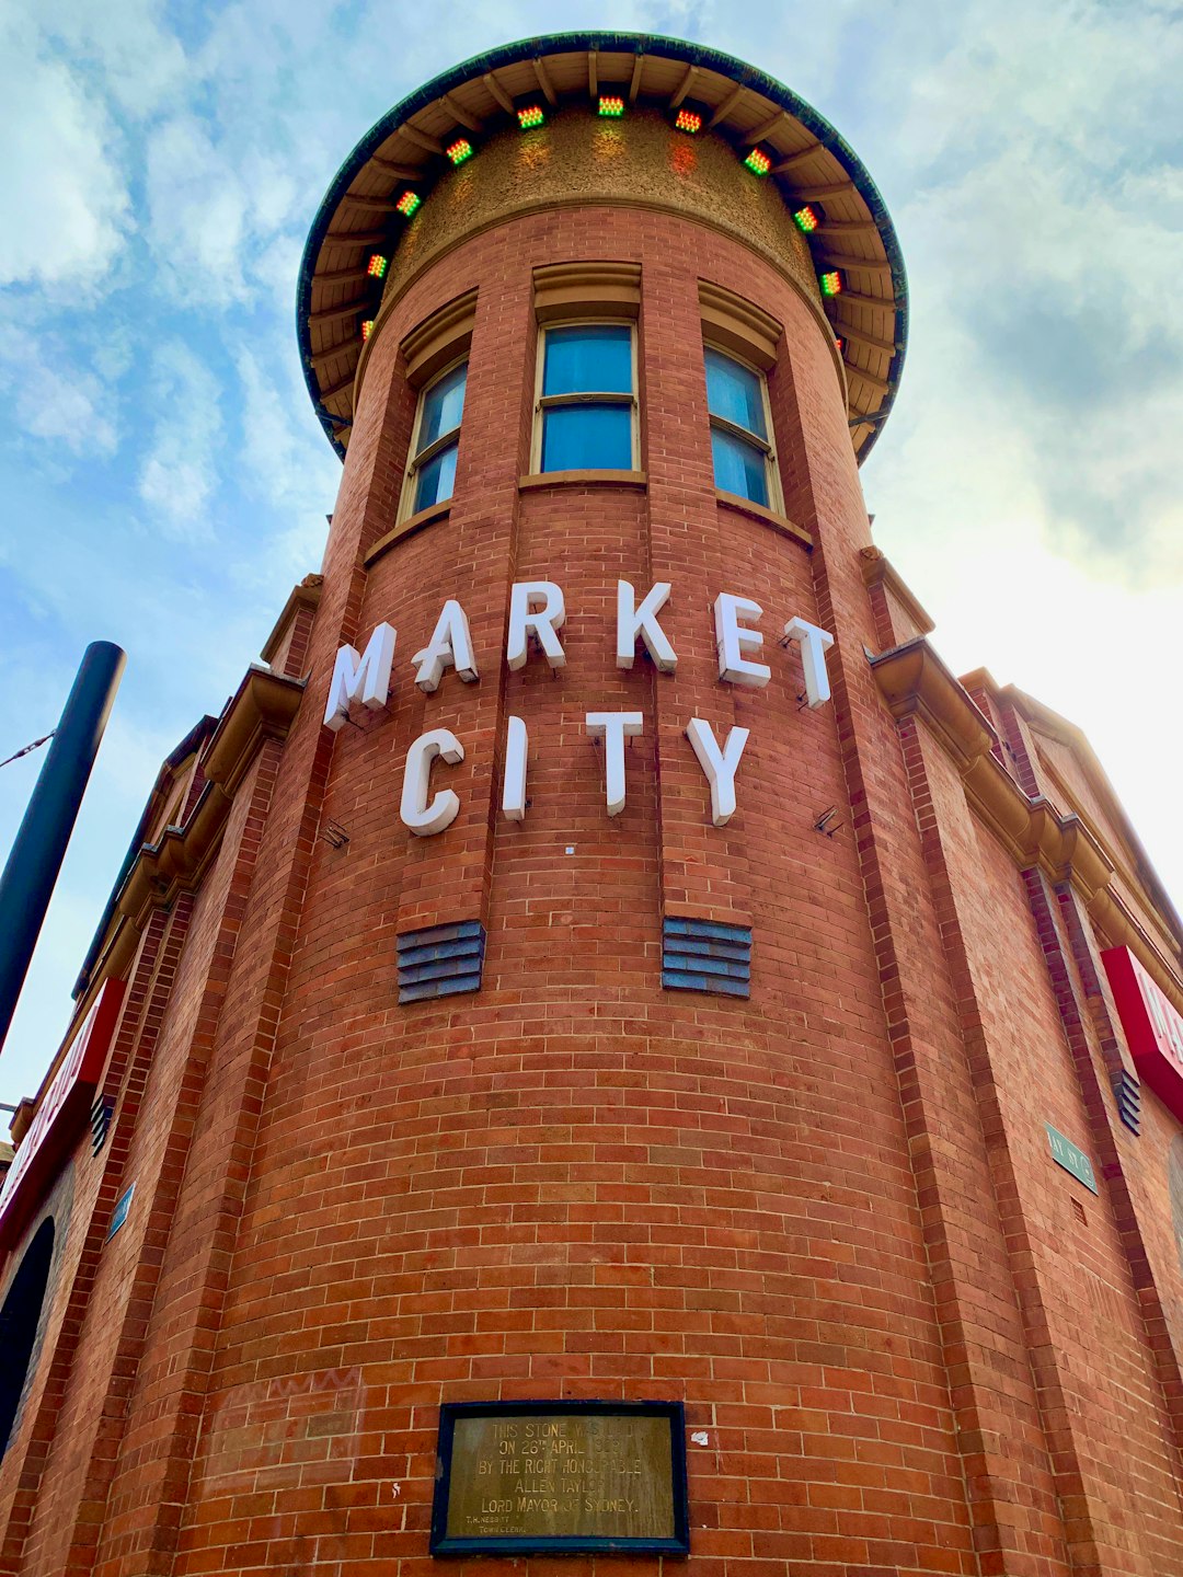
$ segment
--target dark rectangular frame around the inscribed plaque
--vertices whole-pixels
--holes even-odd
[[[448,1501],[451,1495],[451,1462],[456,1422],[462,1418],[543,1416],[628,1416],[664,1418],[670,1429],[670,1492],[674,1500],[674,1536],[669,1539],[560,1536],[486,1536],[461,1539],[448,1536]],[[431,1508],[432,1555],[689,1555],[689,1495],[686,1484],[686,1408],[681,1402],[584,1402],[536,1397],[514,1402],[442,1402],[440,1432],[435,1454],[435,1495]]]

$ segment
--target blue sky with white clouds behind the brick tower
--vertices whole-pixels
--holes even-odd
[[[1085,729],[1183,902],[1174,0],[0,0],[0,759],[88,640],[129,653],[0,1101],[57,1047],[161,759],[319,568],[341,467],[293,296],[320,196],[424,79],[579,27],[751,60],[860,153],[912,289],[877,541],[956,672]],[[0,770],[0,855],[38,766]]]

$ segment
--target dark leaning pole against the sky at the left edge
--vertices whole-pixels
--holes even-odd
[[[95,640],[84,651],[0,877],[0,1046],[16,1012],[126,661],[123,648],[109,640]]]

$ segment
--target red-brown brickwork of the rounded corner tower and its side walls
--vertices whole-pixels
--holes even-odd
[[[532,268],[571,259],[640,265],[644,487],[519,489]],[[812,552],[716,500],[702,279],[782,325],[770,396]],[[415,410],[399,342],[470,289],[450,511],[366,569]],[[65,1251],[0,1467],[0,1572],[427,1577],[440,1402],[558,1396],[685,1400],[700,1577],[1183,1572],[1174,1120],[1148,1091],[1142,1137],[1117,1120],[1128,1052],[1071,885],[1021,871],[929,725],[882,705],[866,651],[904,636],[868,546],[830,347],[740,241],[571,207],[413,279],[369,352],[315,618],[278,648],[306,700],[144,930],[112,1135],[46,1203]],[[615,667],[618,577],[674,583],[677,675]],[[565,588],[560,677],[503,665],[522,579]],[[719,591],[765,609],[767,689],[718,681]],[[409,659],[448,596],[481,680],[423,695]],[[836,636],[819,711],[773,639],[790,615]],[[334,653],[380,620],[390,705],[333,735]],[[582,718],[617,708],[645,724],[609,820]],[[521,823],[498,814],[508,714]],[[691,716],[751,729],[726,828]],[[459,817],[418,839],[397,803],[429,727],[467,754]],[[1030,733],[1002,736],[1038,790]],[[662,923],[686,919],[751,932],[749,997],[662,989]],[[401,1005],[399,940],[459,923],[483,927],[480,990]]]

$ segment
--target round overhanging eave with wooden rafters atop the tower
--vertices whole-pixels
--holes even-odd
[[[304,380],[338,454],[353,421],[360,325],[377,317],[382,301],[382,281],[366,274],[368,254],[394,255],[404,226],[394,210],[399,192],[412,186],[423,199],[413,222],[429,221],[432,186],[451,167],[442,142],[451,129],[487,137],[513,125],[524,93],[550,109],[587,104],[596,82],[623,84],[631,106],[674,112],[692,101],[707,117],[700,136],[770,150],[765,180],[786,205],[825,205],[808,243],[819,274],[844,276],[841,295],[819,300],[842,341],[861,460],[894,404],[909,319],[904,260],[875,183],[825,117],[774,77],[719,50],[644,33],[554,33],[478,55],[396,104],[341,166],[317,210],[297,290]]]

